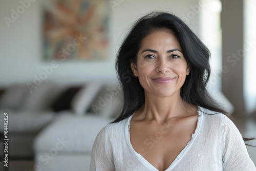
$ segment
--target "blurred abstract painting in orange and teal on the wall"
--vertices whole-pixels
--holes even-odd
[[[109,58],[110,5],[105,0],[44,0],[44,60]]]

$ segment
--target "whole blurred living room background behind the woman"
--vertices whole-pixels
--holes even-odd
[[[243,137],[256,136],[255,8],[254,0],[1,1],[0,170],[89,170],[98,132],[122,109],[118,49],[136,19],[158,10],[209,48],[208,91]],[[256,147],[246,147],[256,164]]]

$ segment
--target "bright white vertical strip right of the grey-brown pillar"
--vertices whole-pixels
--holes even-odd
[[[256,115],[256,1],[244,1],[244,63],[243,63],[243,78],[244,78],[244,99],[246,112],[251,115],[253,112]]]

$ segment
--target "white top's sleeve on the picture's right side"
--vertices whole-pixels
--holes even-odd
[[[226,115],[223,118],[221,129],[223,170],[255,171],[255,165],[249,157],[242,135]]]

